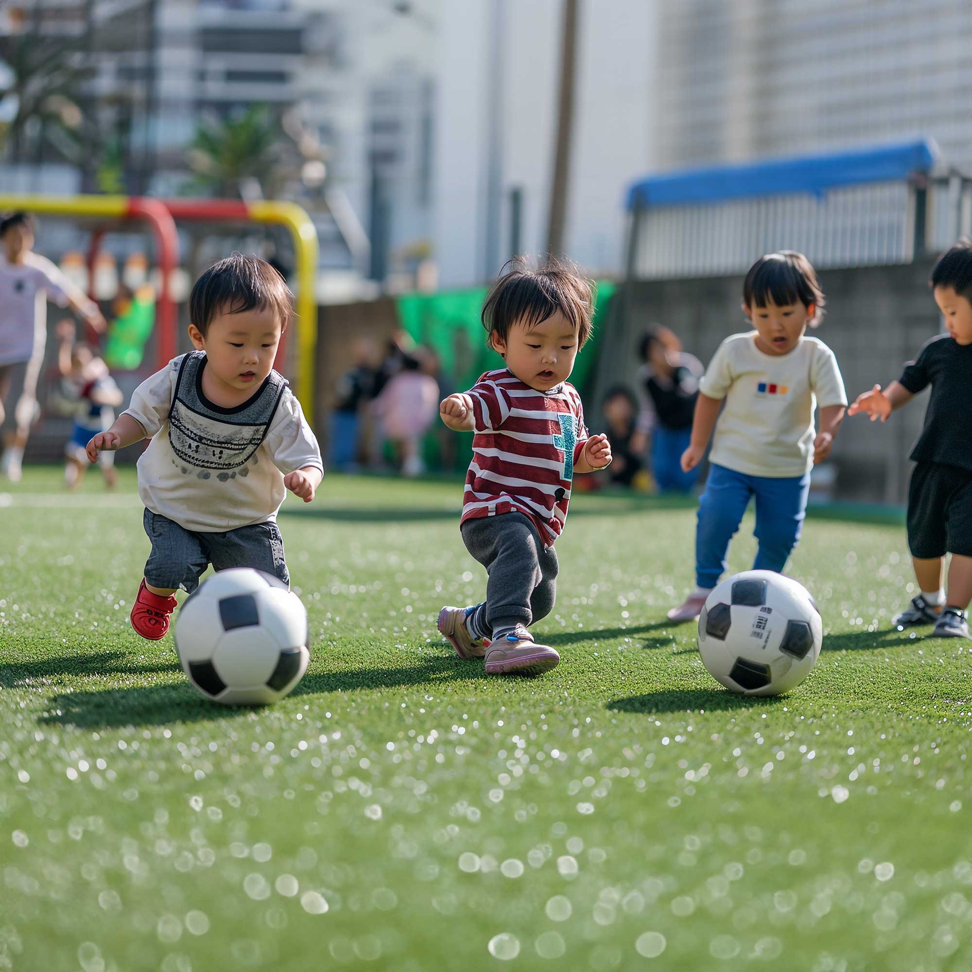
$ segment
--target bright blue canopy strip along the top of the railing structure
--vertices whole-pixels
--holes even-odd
[[[923,139],[821,156],[682,169],[633,183],[628,209],[796,192],[819,195],[838,186],[900,182],[916,172],[927,172],[937,157],[938,146]]]

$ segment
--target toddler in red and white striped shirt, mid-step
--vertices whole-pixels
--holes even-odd
[[[474,432],[460,531],[486,568],[486,600],[442,608],[438,630],[461,658],[485,658],[487,675],[538,675],[560,656],[527,628],[550,613],[554,540],[567,518],[574,472],[605,469],[607,435],[588,434],[567,380],[591,332],[591,285],[573,268],[514,263],[483,305],[489,345],[505,363],[439,406],[442,421]]]

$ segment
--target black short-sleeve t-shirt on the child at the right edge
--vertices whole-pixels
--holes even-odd
[[[972,344],[959,344],[951,334],[933,337],[898,381],[913,395],[931,385],[912,460],[972,469]]]

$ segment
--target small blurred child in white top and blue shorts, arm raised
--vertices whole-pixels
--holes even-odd
[[[61,375],[58,399],[62,409],[74,417],[71,437],[64,445],[64,481],[69,489],[77,489],[91,465],[85,447],[93,435],[111,428],[115,409],[123,397],[108,373],[108,365],[86,343],[75,341],[74,321],[57,325],[57,339],[57,369]],[[114,489],[118,478],[115,453],[100,453],[98,465],[105,486]]]

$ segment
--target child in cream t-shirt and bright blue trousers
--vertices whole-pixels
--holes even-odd
[[[816,327],[823,303],[814,268],[802,254],[770,254],[746,275],[743,309],[755,330],[727,337],[716,351],[699,386],[692,439],[681,458],[682,469],[697,466],[714,428],[699,503],[696,588],[669,611],[673,621],[699,616],[726,570],[729,541],[753,496],[759,541],[754,570],[781,572],[800,538],[810,470],[830,454],[847,407],[834,353],[804,333],[808,325]]]

